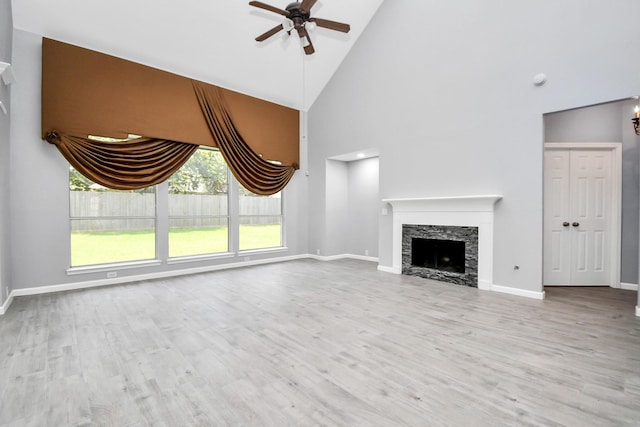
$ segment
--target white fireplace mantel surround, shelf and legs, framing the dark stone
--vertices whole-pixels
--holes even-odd
[[[402,273],[402,225],[478,227],[478,288],[493,282],[493,211],[499,195],[382,199],[393,208],[393,266]]]

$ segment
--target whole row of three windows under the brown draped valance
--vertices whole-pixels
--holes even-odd
[[[283,246],[282,195],[245,189],[216,149],[143,190],[110,190],[70,167],[69,190],[71,267]]]

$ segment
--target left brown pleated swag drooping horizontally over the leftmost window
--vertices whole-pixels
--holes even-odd
[[[137,190],[159,184],[198,149],[194,144],[164,139],[102,142],[55,131],[49,132],[46,139],[82,175],[115,190]]]

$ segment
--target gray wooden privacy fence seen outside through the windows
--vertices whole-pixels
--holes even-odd
[[[240,196],[240,224],[279,224],[281,199]],[[153,193],[95,191],[70,192],[71,231],[133,231],[155,228]],[[169,226],[175,228],[225,227],[226,195],[169,194]]]

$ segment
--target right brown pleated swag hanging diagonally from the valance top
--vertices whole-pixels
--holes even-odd
[[[213,139],[236,179],[256,194],[268,196],[281,191],[298,165],[278,165],[256,154],[234,126],[220,89],[195,80],[193,87]]]

